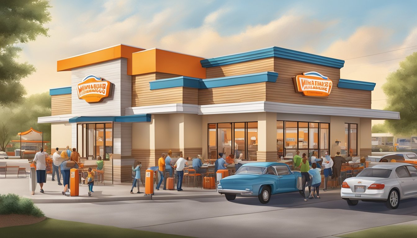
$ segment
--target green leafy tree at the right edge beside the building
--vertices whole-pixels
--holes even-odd
[[[385,110],[397,111],[401,120],[386,120],[395,135],[417,133],[417,52],[399,63],[399,69],[387,77],[382,85],[387,95]]]

